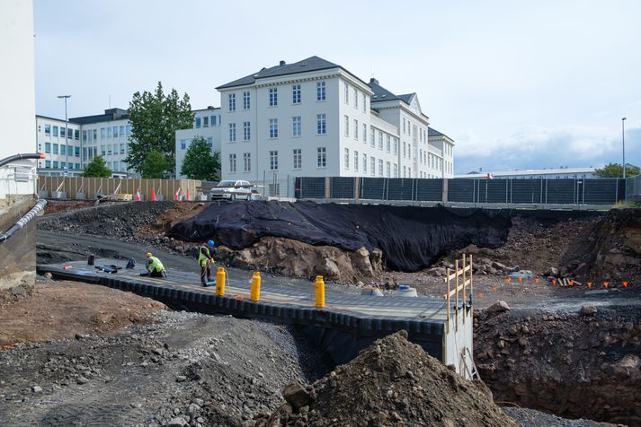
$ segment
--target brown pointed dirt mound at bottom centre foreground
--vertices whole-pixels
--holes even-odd
[[[483,383],[462,379],[405,331],[376,341],[311,387],[283,390],[287,403],[255,425],[516,426]]]

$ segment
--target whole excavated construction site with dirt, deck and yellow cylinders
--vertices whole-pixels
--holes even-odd
[[[641,425],[638,209],[49,200],[36,222],[35,284],[0,296],[5,425]]]

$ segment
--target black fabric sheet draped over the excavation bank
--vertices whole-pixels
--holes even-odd
[[[452,249],[500,247],[511,223],[506,211],[252,201],[209,205],[169,235],[191,241],[214,238],[236,250],[263,236],[350,251],[378,248],[388,268],[412,272]]]

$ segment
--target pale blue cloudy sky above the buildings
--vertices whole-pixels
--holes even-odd
[[[455,141],[455,173],[641,165],[636,0],[34,0],[36,110],[127,109],[131,95],[216,86],[280,60],[323,57],[416,92]]]

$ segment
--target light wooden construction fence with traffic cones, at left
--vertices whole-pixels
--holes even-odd
[[[119,179],[82,177],[38,177],[40,197],[94,199],[114,196],[121,200],[200,200],[200,181],[195,179]]]

